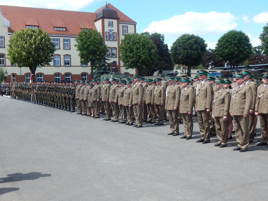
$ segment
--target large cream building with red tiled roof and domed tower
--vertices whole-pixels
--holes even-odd
[[[29,82],[28,67],[18,68],[7,59],[7,44],[14,31],[41,28],[55,44],[56,51],[49,66],[37,66],[36,81],[91,80],[91,66],[80,62],[74,46],[82,28],[94,29],[107,45],[110,72],[132,75],[119,59],[119,44],[127,33],[136,33],[136,22],[111,4],[94,13],[0,5],[0,66],[8,72],[7,82]]]

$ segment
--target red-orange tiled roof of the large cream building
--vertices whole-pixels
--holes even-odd
[[[108,6],[117,11],[120,21],[136,23],[111,4],[108,4]],[[48,34],[70,36],[76,36],[79,31],[81,31],[81,28],[91,28],[96,30],[96,26],[94,25],[96,12],[87,13],[4,5],[0,5],[0,8],[3,17],[10,21],[11,32],[20,30],[21,28],[25,29],[25,25],[38,26]],[[54,30],[54,27],[66,28],[65,31],[56,31]]]

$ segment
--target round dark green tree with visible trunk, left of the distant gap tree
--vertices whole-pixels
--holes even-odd
[[[193,34],[182,34],[170,48],[171,59],[175,64],[188,66],[187,76],[191,76],[191,67],[201,64],[206,47],[203,38]]]

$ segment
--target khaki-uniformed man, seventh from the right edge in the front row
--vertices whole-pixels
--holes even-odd
[[[152,101],[154,102],[154,107],[156,109],[156,114],[158,118],[158,122],[154,125],[162,126],[164,125],[164,110],[165,110],[165,97],[166,97],[166,90],[164,85],[161,84],[161,79],[156,78],[157,86],[154,88],[154,96]]]

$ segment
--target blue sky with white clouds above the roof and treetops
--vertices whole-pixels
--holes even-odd
[[[75,2],[75,3],[74,3]],[[0,0],[0,5],[95,12],[106,0]],[[107,0],[137,22],[136,31],[161,33],[169,48],[184,33],[204,38],[207,48],[230,30],[243,31],[253,47],[260,45],[268,23],[267,0]],[[1,6],[0,6],[1,8]]]

